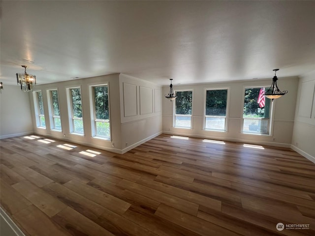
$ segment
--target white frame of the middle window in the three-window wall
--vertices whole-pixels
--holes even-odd
[[[206,115],[207,113],[207,91],[212,91],[212,90],[227,90],[226,91],[226,107],[225,107],[225,116],[209,116]],[[229,110],[229,92],[230,88],[225,87],[225,88],[211,88],[211,89],[205,89],[205,96],[204,96],[204,122],[203,122],[203,129],[205,131],[215,131],[215,132],[227,132],[227,127],[228,127],[228,110]],[[206,128],[206,120],[207,118],[224,118],[224,129],[211,129],[211,128]]]

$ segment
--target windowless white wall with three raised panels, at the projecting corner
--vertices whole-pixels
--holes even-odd
[[[162,133],[162,87],[120,74],[124,152]]]

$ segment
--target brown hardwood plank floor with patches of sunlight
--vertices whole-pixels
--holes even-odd
[[[26,236],[315,235],[315,164],[291,149],[160,135],[116,154],[32,135],[0,152],[1,207]]]

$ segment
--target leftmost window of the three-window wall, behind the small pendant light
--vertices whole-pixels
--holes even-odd
[[[192,91],[175,91],[174,127],[191,128]]]

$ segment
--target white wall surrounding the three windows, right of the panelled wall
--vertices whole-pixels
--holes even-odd
[[[246,142],[261,145],[290,147],[294,124],[294,112],[297,95],[298,77],[279,78],[280,89],[289,92],[279,99],[274,100],[275,115],[273,120],[272,135],[253,135],[241,133],[244,88],[269,87],[272,80],[252,80],[243,82],[211,83],[200,85],[173,85],[174,90],[193,90],[192,104],[192,129],[173,127],[174,102],[163,98],[163,132],[175,135],[184,135],[217,140]],[[203,129],[205,110],[205,90],[228,88],[228,114],[227,132],[208,131]],[[163,94],[167,94],[169,87],[163,87]]]

